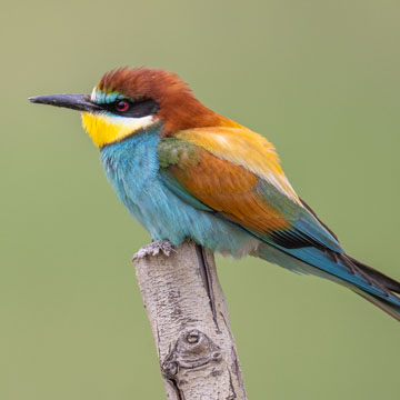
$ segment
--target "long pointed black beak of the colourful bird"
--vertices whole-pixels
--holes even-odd
[[[44,94],[29,98],[29,101],[39,104],[64,107],[86,112],[96,112],[102,110],[101,107],[90,101],[90,97],[88,94]]]

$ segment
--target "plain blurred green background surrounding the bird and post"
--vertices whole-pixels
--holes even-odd
[[[354,257],[400,279],[398,0],[18,1],[0,10],[1,400],[162,399],[131,256],[149,241],[69,110],[120,66],[178,72],[268,137]],[[398,399],[399,324],[356,294],[218,259],[251,399]]]

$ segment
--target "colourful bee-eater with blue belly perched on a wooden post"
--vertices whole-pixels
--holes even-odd
[[[297,194],[273,144],[207,108],[176,73],[124,67],[91,94],[29,100],[81,112],[109,182],[153,240],[191,239],[326,278],[400,321],[400,282],[347,254]]]

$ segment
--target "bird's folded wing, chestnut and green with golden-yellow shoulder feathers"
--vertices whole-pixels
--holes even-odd
[[[159,160],[166,184],[194,207],[286,248],[342,252],[298,198],[274,148],[261,136],[238,128],[182,131],[161,140]]]

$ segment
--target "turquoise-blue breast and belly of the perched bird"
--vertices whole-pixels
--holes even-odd
[[[178,246],[190,238],[211,251],[242,257],[258,246],[236,226],[173,194],[159,174],[158,131],[144,131],[101,150],[106,174],[130,213],[156,240]]]

